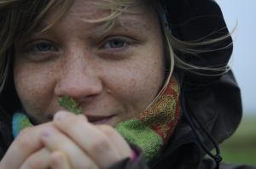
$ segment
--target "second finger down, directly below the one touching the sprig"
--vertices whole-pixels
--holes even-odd
[[[72,168],[98,168],[95,162],[77,144],[74,144],[70,138],[54,128],[45,128],[41,134],[41,140],[49,151],[65,153]]]

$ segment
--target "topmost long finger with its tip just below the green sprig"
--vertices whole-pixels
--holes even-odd
[[[112,141],[77,115],[60,112],[54,117],[55,126],[78,144],[101,168],[122,160]]]

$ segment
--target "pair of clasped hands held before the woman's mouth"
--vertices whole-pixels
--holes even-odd
[[[112,127],[93,126],[84,115],[64,113],[66,117],[60,119],[58,115],[61,114],[55,115],[54,122],[22,130],[4,155],[0,169],[104,168],[125,157],[131,157],[130,147]],[[49,128],[57,133],[56,137],[48,136]],[[62,140],[63,137],[66,137],[66,141]],[[49,143],[50,139],[55,141]],[[70,149],[72,146],[79,149]],[[79,154],[81,156],[77,160]]]

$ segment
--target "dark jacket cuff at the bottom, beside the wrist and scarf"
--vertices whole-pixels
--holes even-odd
[[[140,149],[136,144],[129,144],[137,154],[137,160],[131,161],[130,158],[126,158],[119,161],[106,169],[149,169],[145,157],[143,155],[143,149]]]

